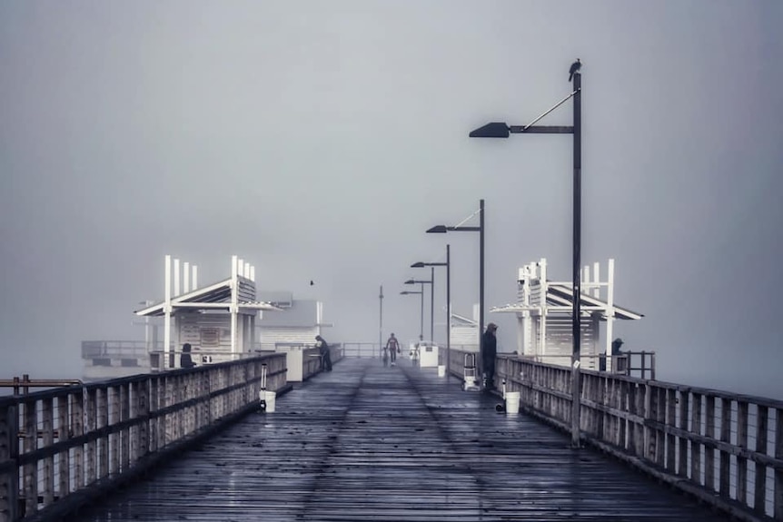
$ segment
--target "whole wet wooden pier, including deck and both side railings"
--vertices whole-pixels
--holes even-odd
[[[557,420],[570,411],[557,373],[568,369],[501,359],[501,375],[522,396],[513,414],[498,411],[499,394],[463,391],[458,367],[441,377],[407,359],[385,368],[379,359],[335,356],[334,371],[313,368],[295,385],[285,383],[285,358],[275,354],[4,399],[0,520],[779,519],[783,468],[767,447],[779,449],[780,438],[757,428],[780,433],[780,409],[751,406],[758,421],[750,451],[747,440],[735,446],[669,427],[675,403],[666,397],[688,397],[682,390],[585,372],[583,445],[574,448],[568,422],[559,428]],[[258,408],[261,365],[278,389],[272,412]],[[605,407],[596,400],[600,382],[611,391]],[[639,400],[619,400],[631,388],[638,391],[626,397]],[[14,400],[18,452],[5,442]],[[705,401],[714,407],[715,398]],[[748,404],[739,404],[739,417],[712,413],[748,437]],[[699,419],[709,412],[691,407],[685,419],[697,411]],[[679,471],[686,475],[671,479]]]

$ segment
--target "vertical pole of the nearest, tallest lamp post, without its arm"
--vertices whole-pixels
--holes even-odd
[[[581,300],[581,74],[574,74],[573,316],[571,332],[571,445],[580,446],[580,300]]]

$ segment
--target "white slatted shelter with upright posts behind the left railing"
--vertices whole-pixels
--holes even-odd
[[[196,364],[239,359],[253,352],[259,312],[281,310],[256,299],[255,267],[235,255],[228,278],[203,288],[197,283],[195,265],[166,255],[164,300],[136,310],[141,317],[164,318],[164,352],[150,354],[153,370],[179,368],[186,344]]]

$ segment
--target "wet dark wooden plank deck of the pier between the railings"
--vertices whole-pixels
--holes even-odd
[[[499,402],[346,359],[74,520],[728,519]]]

